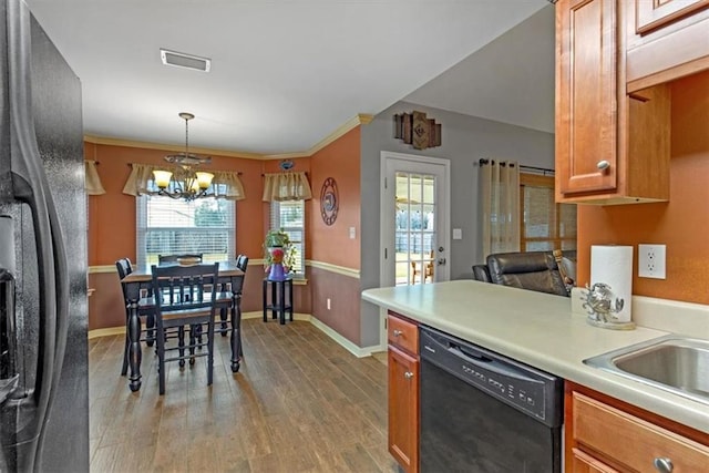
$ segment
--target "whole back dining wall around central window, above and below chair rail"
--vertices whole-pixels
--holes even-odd
[[[84,144],[84,156],[100,163],[99,175],[106,189],[104,195],[89,197],[89,266],[113,266],[116,259],[125,256],[133,261],[136,260],[135,197],[123,194],[123,186],[131,172],[129,163],[163,164],[166,153],[162,150]],[[264,163],[213,155],[209,167],[242,172],[239,177],[244,184],[246,199],[237,203],[236,253],[246,254],[251,259],[260,259]],[[261,308],[261,275],[263,271],[257,265],[249,264],[242,301],[244,311]],[[91,273],[89,285],[95,289],[89,301],[89,329],[121,327],[125,323],[117,273]],[[301,297],[300,300],[309,304],[310,299]]]

